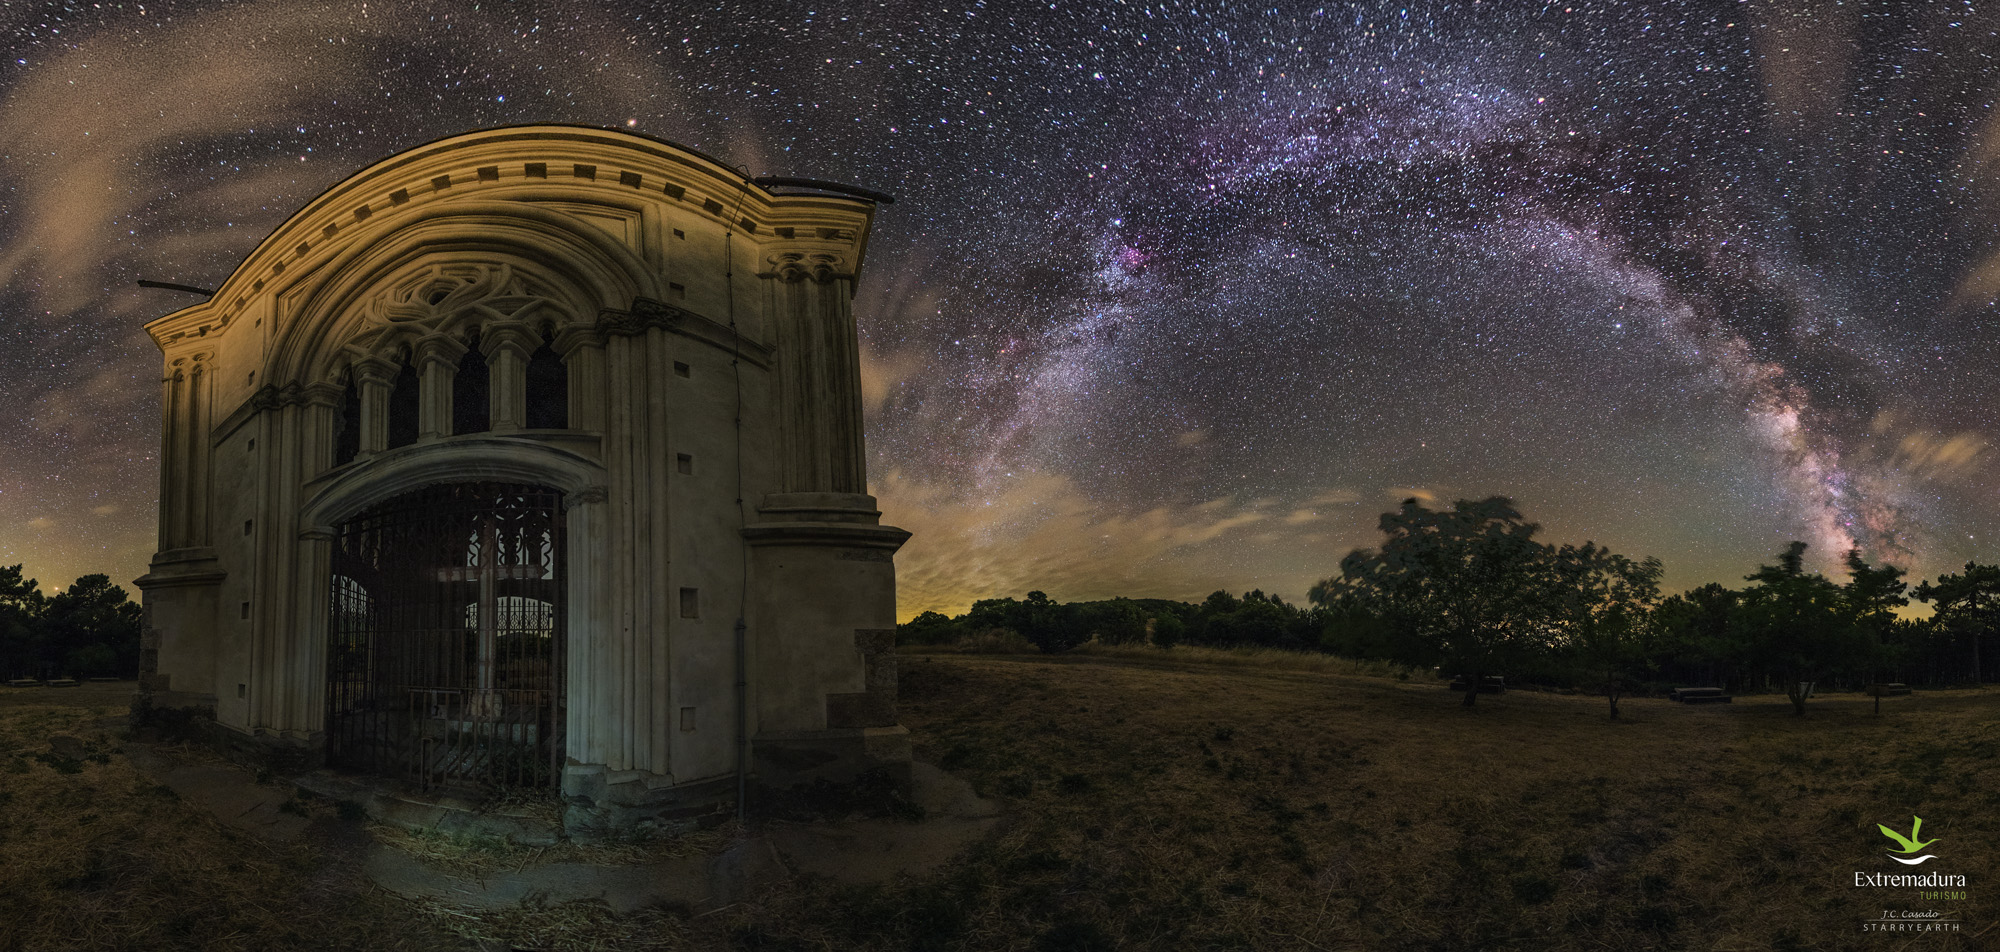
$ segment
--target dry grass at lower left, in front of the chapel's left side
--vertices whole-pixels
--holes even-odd
[[[694,942],[668,912],[614,916],[600,906],[564,904],[466,914],[404,902],[362,874],[360,848],[372,834],[334,804],[294,802],[312,818],[296,842],[230,828],[120,752],[130,694],[130,682],[0,688],[4,952],[488,952]],[[220,762],[204,748],[174,754]],[[382,834],[412,840],[404,846],[442,868],[514,862],[494,856],[508,850]]]

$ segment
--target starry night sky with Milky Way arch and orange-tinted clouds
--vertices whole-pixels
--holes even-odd
[[[136,278],[516,122],[896,196],[856,312],[904,616],[1302,598],[1408,496],[1670,590],[2000,562],[2000,8],[774,8],[0,4],[0,564],[144,572],[140,328],[196,298]]]

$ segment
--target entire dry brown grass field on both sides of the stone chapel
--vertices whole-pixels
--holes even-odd
[[[794,882],[698,920],[376,892],[358,824],[266,844],[118,754],[118,710],[0,694],[0,950],[1968,950],[2000,938],[2000,692],[1726,706],[1508,692],[1282,656],[906,654],[918,756],[1008,802],[960,862]],[[74,736],[74,756],[50,748]],[[332,814],[330,808],[316,808]],[[1924,818],[1964,900],[1876,830]],[[1938,910],[1956,934],[1862,934]],[[466,938],[470,936],[470,938]],[[476,942],[476,938],[488,942]],[[494,942],[502,936],[504,942]]]

